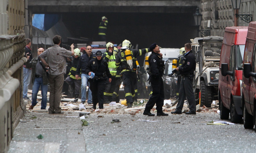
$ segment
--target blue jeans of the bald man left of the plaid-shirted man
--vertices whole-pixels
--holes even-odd
[[[47,84],[43,85],[43,78],[35,77],[33,89],[32,89],[32,106],[37,105],[37,94],[39,91],[39,87],[41,86],[41,110],[46,110],[46,103],[47,103]]]

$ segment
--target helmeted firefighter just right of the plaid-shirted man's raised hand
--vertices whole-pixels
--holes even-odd
[[[67,84],[70,85],[70,87],[72,89],[72,93],[73,93],[73,91],[75,92],[75,100],[74,100],[74,102],[77,102],[78,97],[80,95],[81,74],[79,74],[79,78],[76,79],[75,78],[75,71],[77,71],[77,65],[78,65],[78,61],[79,61],[79,58],[80,58],[81,54],[82,53],[80,52],[80,49],[78,49],[78,48],[74,49],[74,56],[75,56],[75,58],[73,60],[72,67],[70,69],[68,77],[65,80],[67,82]]]

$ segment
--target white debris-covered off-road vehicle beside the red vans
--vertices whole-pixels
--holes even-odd
[[[213,100],[218,99],[222,41],[223,37],[218,36],[191,39],[192,52],[196,59],[193,88],[196,99],[199,99],[199,92],[201,92],[201,106],[211,107]]]

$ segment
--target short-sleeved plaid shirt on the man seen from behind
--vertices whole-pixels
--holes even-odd
[[[47,57],[47,64],[50,66],[48,73],[50,75],[59,75],[66,73],[66,57],[71,55],[71,51],[61,48],[59,45],[54,45],[46,49],[39,57],[43,59]]]

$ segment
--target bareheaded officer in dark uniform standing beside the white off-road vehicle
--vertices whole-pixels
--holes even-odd
[[[177,67],[176,71],[181,73],[181,86],[179,88],[179,101],[176,107],[176,111],[171,112],[172,114],[181,114],[184,104],[184,99],[187,97],[187,102],[189,103],[189,112],[185,114],[196,114],[195,106],[195,95],[193,91],[193,78],[195,71],[195,55],[192,53],[191,44],[185,44],[186,54],[183,59],[182,67]]]

